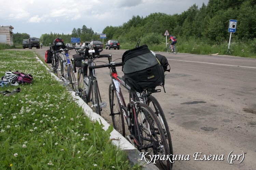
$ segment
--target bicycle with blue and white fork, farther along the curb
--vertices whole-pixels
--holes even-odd
[[[58,43],[57,43],[58,44]],[[56,73],[57,76],[65,82],[65,84],[71,84],[72,89],[76,91],[76,78],[73,71],[73,66],[71,65],[71,62],[69,60],[69,50],[74,49],[73,47],[68,47],[65,49],[60,49],[57,51],[54,51],[55,54],[57,54],[57,62],[55,64],[56,66]],[[61,56],[59,55],[61,54]]]

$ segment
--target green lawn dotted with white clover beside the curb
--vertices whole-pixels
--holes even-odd
[[[0,169],[131,169],[126,154],[91,122],[65,86],[30,51],[0,50],[0,76],[33,75],[21,92],[0,97]],[[8,86],[1,91],[12,91]]]

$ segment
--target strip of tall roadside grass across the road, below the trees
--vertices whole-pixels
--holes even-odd
[[[142,45],[142,43],[140,44]],[[148,48],[152,51],[166,51],[166,44],[147,44]],[[135,48],[136,43],[123,43],[120,45],[120,49],[132,49]],[[167,45],[168,46],[168,45]],[[219,45],[210,45],[203,40],[187,40],[184,38],[178,39],[177,44],[178,52],[190,53],[190,54],[216,54],[219,55],[233,55],[240,57],[256,58],[256,39],[249,40],[246,43],[240,41],[233,41],[230,49],[228,50],[228,42],[223,42]]]

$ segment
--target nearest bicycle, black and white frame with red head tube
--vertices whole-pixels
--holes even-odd
[[[139,151],[159,156],[170,154],[168,143],[158,118],[148,105],[136,101],[134,98],[136,91],[117,75],[117,66],[122,66],[122,63],[111,62],[105,65],[88,66],[89,71],[96,68],[110,68],[112,83],[109,86],[109,102],[110,116],[114,129],[125,136],[125,118],[128,130],[130,131],[130,135],[127,136],[127,139],[133,143],[133,145],[136,145]],[[129,91],[129,103],[127,105],[120,85]],[[158,159],[156,162],[157,165],[163,169],[171,168],[169,160]]]

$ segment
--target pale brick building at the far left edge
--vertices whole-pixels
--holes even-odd
[[[0,43],[13,45],[13,30],[12,26],[0,26]]]

